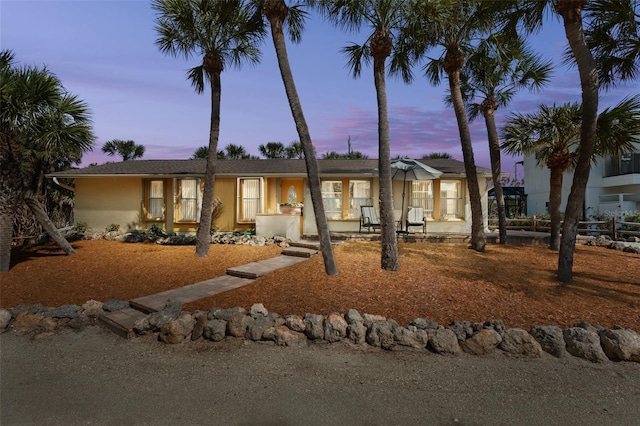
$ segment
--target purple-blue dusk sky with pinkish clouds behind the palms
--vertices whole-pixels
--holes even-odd
[[[147,1],[0,0],[0,46],[18,62],[46,65],[71,93],[91,109],[97,136],[83,165],[113,161],[101,151],[111,139],[131,139],[146,147],[143,159],[189,158],[208,144],[210,95],[198,95],[185,78],[196,59],[168,57],[154,45],[154,13]],[[363,38],[334,29],[317,17],[307,22],[302,43],[289,44],[289,59],[305,117],[318,154],[352,148],[377,158],[377,106],[371,68],[354,80],[340,49]],[[533,47],[556,69],[537,93],[521,92],[498,110],[498,125],[510,112],[526,113],[541,103],[580,101],[577,71],[561,65],[564,30],[551,19],[531,37]],[[280,79],[273,44],[262,47],[262,61],[222,75],[219,146],[239,144],[258,155],[258,146],[298,139]],[[637,85],[606,93],[601,109],[612,106]],[[391,155],[421,157],[448,152],[462,160],[453,110],[442,101],[445,84],[432,87],[417,76],[412,85],[389,77],[387,95]],[[483,120],[471,124],[476,163],[489,166]],[[503,171],[519,158],[503,155]],[[519,168],[519,175],[522,176]]]

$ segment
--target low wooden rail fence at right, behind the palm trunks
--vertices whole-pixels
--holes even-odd
[[[489,218],[489,226],[497,228],[498,218]],[[551,230],[551,220],[539,219],[536,216],[507,219],[507,229],[549,232]],[[609,235],[613,240],[617,240],[619,237],[640,237],[640,223],[623,222],[616,218],[606,221],[580,221],[578,222],[578,234]]]

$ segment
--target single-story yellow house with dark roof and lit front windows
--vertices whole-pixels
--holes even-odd
[[[393,180],[394,213],[404,205],[422,207],[427,232],[469,233],[471,208],[464,163],[452,159],[420,160],[442,172],[438,179]],[[358,232],[360,206],[378,207],[378,160],[318,160],[325,212],[332,232]],[[205,160],[133,160],[51,173],[71,179],[74,218],[93,230],[111,224],[121,229],[157,225],[169,232],[197,230],[202,206]],[[487,221],[486,179],[478,167],[478,183]],[[247,231],[298,239],[317,234],[304,160],[218,160],[214,197],[221,211],[214,215],[218,231]],[[293,214],[282,204],[302,204]]]

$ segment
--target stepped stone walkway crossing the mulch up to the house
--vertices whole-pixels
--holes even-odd
[[[292,243],[291,247],[282,250],[280,256],[229,268],[227,275],[222,277],[138,297],[129,301],[130,308],[107,312],[101,315],[99,320],[117,335],[128,339],[133,336],[133,326],[136,321],[147,314],[161,310],[168,299],[176,299],[182,304],[204,299],[250,284],[269,272],[303,262],[317,253],[318,243]]]

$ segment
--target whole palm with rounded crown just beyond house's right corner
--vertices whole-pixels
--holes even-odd
[[[539,89],[549,82],[552,63],[543,62],[520,40],[492,37],[480,44],[463,68],[464,98],[469,121],[484,117],[491,175],[498,206],[500,244],[507,241],[507,215],[500,182],[500,141],[495,112],[507,106],[520,88]],[[479,98],[478,101],[475,101]]]

